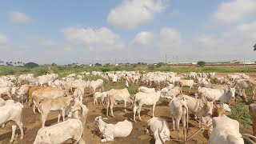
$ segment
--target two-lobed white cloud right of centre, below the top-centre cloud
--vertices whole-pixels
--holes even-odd
[[[170,27],[165,27],[158,33],[140,32],[136,35],[132,44],[151,46],[156,48],[168,49],[174,46],[182,45],[181,34]]]

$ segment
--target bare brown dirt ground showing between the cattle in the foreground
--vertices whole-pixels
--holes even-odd
[[[216,74],[219,76],[226,76],[225,74]],[[255,74],[249,74],[251,78],[255,79]],[[84,104],[88,107],[89,114],[87,115],[86,126],[84,127],[84,134],[83,139],[86,141],[86,143],[89,144],[97,144],[102,143],[100,141],[100,134],[98,133],[98,129],[94,127],[94,118],[96,118],[99,115],[106,116],[106,105],[105,106],[94,106],[93,105],[93,98],[92,98],[92,92],[90,89],[86,89],[84,97]],[[158,102],[158,105],[155,108],[154,115],[155,117],[161,117],[165,118],[166,121],[169,124],[169,127],[172,127],[171,119],[170,119],[170,113],[168,109],[168,103],[167,101]],[[29,108],[26,103],[23,111],[22,111],[22,122],[23,122],[23,130],[25,133],[25,137],[23,140],[20,140],[20,130],[16,130],[18,132],[18,136],[16,137],[14,143],[22,143],[22,144],[30,144],[34,142],[34,138],[37,135],[38,130],[41,128],[41,117],[40,114],[33,114],[32,108]],[[130,103],[128,103],[128,107],[130,107]],[[115,118],[110,117],[109,119],[105,120],[107,123],[117,123],[120,121],[123,121],[125,119],[130,120],[133,122],[133,113],[131,109],[127,109],[127,113],[124,113],[123,111],[123,104],[118,104],[117,106],[114,106],[114,115]],[[145,143],[154,143],[154,138],[150,137],[150,135],[146,135],[144,131],[142,130],[142,127],[146,125],[146,121],[149,120],[151,117],[150,115],[152,112],[150,111],[150,107],[142,106],[142,122],[133,122],[133,130],[131,134],[126,138],[114,138],[114,141],[116,142],[107,142],[107,143],[122,143],[122,144],[128,144],[128,143],[136,143],[136,144],[145,144]],[[138,117],[136,117],[138,119]],[[61,118],[62,120],[62,118]],[[58,121],[58,112],[50,112],[48,115],[48,118],[46,120],[46,126],[51,126],[57,123]],[[0,128],[0,144],[1,143],[9,143],[10,137],[11,137],[11,123],[9,122],[4,129]],[[198,128],[198,122],[195,121],[193,118],[189,120],[189,137],[194,134]],[[243,133],[252,134],[252,130],[246,130],[241,129]],[[170,137],[171,138],[177,138],[177,131],[171,131],[170,130]],[[182,125],[180,126],[180,134],[179,134],[179,140],[183,141],[183,134],[182,134]],[[206,143],[208,139],[207,130],[201,130],[198,134],[196,134],[193,138],[191,138],[187,143],[194,144],[194,143]],[[68,141],[67,143],[70,143]],[[166,143],[182,143],[182,142],[176,142],[176,141],[170,141]]]

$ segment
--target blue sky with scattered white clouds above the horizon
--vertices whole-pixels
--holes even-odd
[[[256,60],[255,0],[2,1],[0,60]]]

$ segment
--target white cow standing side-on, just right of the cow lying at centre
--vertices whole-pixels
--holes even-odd
[[[161,91],[158,91],[157,93],[142,93],[138,92],[134,95],[134,122],[136,122],[135,116],[136,112],[138,114],[138,118],[140,121],[142,121],[141,118],[141,110],[143,105],[152,106],[152,116],[154,117],[154,108],[157,105],[157,102],[161,96]]]

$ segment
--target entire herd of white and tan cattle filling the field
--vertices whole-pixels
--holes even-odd
[[[114,72],[108,72],[110,75]],[[181,74],[180,77],[173,72],[138,72],[116,71],[118,81],[122,82],[126,74],[130,82],[137,84],[142,82],[144,86],[138,88],[138,93],[132,96],[125,88],[122,90],[111,89],[104,91],[102,79],[106,78],[102,72],[82,72],[79,75],[70,74],[65,78],[58,78],[58,74],[46,74],[34,77],[33,74],[22,74],[18,78],[14,75],[0,77],[0,126],[6,122],[14,121],[10,142],[14,141],[14,133],[18,126],[21,130],[21,139],[24,137],[22,129],[22,108],[24,102],[33,105],[42,116],[42,128],[34,140],[39,143],[62,143],[72,139],[74,143],[85,143],[82,139],[83,126],[86,124],[86,116],[89,113],[83,104],[84,89],[89,87],[94,96],[94,105],[98,99],[102,105],[106,104],[106,116],[114,117],[113,108],[118,102],[123,102],[126,112],[126,103],[130,102],[133,108],[134,122],[136,114],[142,121],[140,112],[142,106],[152,106],[152,117],[143,127],[150,132],[155,143],[170,141],[170,129],[163,118],[154,117],[154,109],[160,98],[170,99],[169,110],[172,118],[172,129],[177,130],[179,135],[179,123],[182,121],[184,141],[189,130],[189,112],[199,118],[198,126],[211,126],[208,131],[209,143],[244,143],[244,135],[239,132],[239,123],[228,118],[226,111],[230,111],[229,104],[235,98],[241,97],[247,102],[246,88],[250,88],[255,94],[256,84],[246,74],[228,74],[226,77],[215,77],[215,73]],[[99,76],[102,79],[90,81],[90,76]],[[84,80],[84,79],[87,79]],[[151,86],[155,88],[149,88]],[[182,94],[182,87],[189,87],[189,95]],[[197,89],[195,94],[190,94],[191,88]],[[96,92],[96,89],[100,89]],[[193,95],[193,96],[191,96]],[[5,97],[6,96],[6,97]],[[3,100],[1,97],[8,98]],[[45,126],[47,115],[50,111],[58,111],[58,124]],[[60,115],[62,112],[62,122]],[[217,114],[216,114],[217,113]],[[65,121],[65,116],[70,117]],[[133,123],[127,120],[117,124],[104,122],[105,118],[98,116],[95,124],[102,133],[102,142],[114,141],[114,138],[125,138],[133,130]],[[177,135],[177,139],[178,139]],[[250,135],[250,138],[255,138]],[[250,139],[246,138],[250,141]]]

